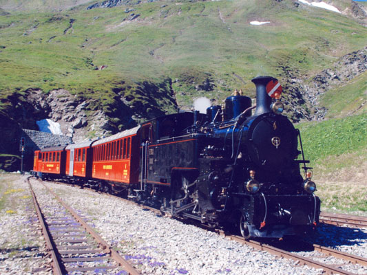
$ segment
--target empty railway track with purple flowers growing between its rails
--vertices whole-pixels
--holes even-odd
[[[43,184],[42,181],[41,183]],[[55,197],[59,206],[53,206],[51,211],[50,209],[42,211],[30,183],[30,178],[28,178],[28,184],[48,252],[52,257],[54,274],[118,272],[122,270],[126,274],[139,274],[45,184],[43,186]]]

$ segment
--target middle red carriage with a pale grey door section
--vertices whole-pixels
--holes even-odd
[[[67,145],[66,151],[66,175],[72,177],[92,177],[92,148],[94,141],[79,142]]]

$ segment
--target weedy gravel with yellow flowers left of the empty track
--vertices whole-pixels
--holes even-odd
[[[25,178],[0,175],[0,274],[52,274]]]

